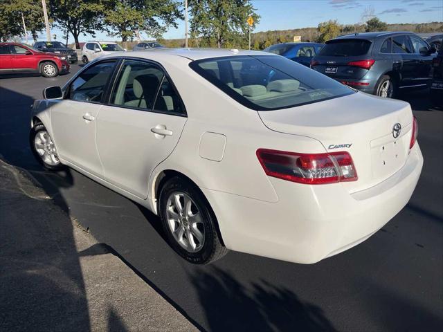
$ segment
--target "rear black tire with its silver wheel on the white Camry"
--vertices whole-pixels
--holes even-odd
[[[179,176],[166,181],[159,196],[159,215],[168,243],[190,263],[209,264],[228,252],[221,244],[213,210],[192,182]]]

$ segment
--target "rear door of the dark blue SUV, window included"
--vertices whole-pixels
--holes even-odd
[[[392,53],[401,55],[401,66],[399,68],[399,87],[414,86],[417,84],[417,57],[413,53],[407,35],[392,37]]]

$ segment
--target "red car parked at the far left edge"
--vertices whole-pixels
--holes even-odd
[[[17,43],[0,43],[0,74],[40,73],[54,77],[69,73],[66,55],[46,53]]]

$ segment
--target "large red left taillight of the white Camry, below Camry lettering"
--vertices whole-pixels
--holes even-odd
[[[257,158],[268,176],[287,181],[320,185],[357,180],[354,163],[347,152],[297,154],[257,149]]]

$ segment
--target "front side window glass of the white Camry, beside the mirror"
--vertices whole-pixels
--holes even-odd
[[[116,61],[100,62],[82,71],[69,86],[69,98],[80,102],[101,102]]]

